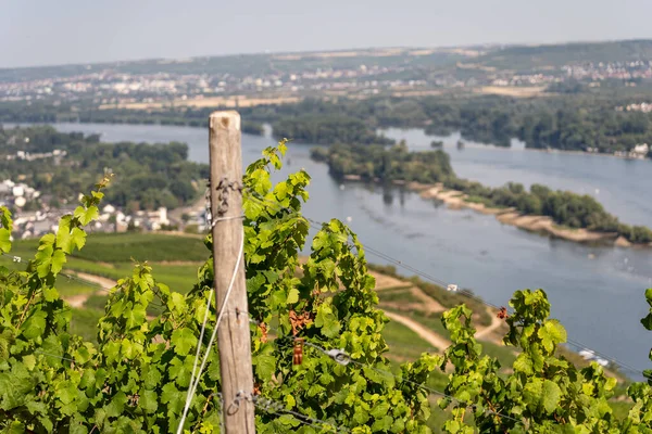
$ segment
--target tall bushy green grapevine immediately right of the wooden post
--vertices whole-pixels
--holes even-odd
[[[284,148],[281,144],[281,152]],[[252,195],[244,204],[249,310],[263,323],[277,319],[280,336],[294,330],[298,336],[327,349],[342,348],[354,361],[389,369],[383,357],[387,350],[381,336],[386,320],[375,308],[378,299],[362,245],[346,226],[331,220],[315,235],[310,258],[300,265],[298,252],[309,225],[299,212],[301,201],[308,199],[310,178],[299,171],[272,188],[266,167],[280,163],[274,150],[264,154],[265,158],[252,164],[244,176],[244,191]],[[301,278],[297,268],[302,269]],[[293,327],[290,312],[310,320]],[[260,336],[261,329],[255,333]],[[425,429],[428,403],[411,383],[398,388],[393,376],[379,375],[358,363],[338,366],[312,350],[300,367],[293,367],[291,344],[283,339],[267,343],[254,340],[253,355],[263,396],[285,400],[287,409],[351,429],[366,425],[374,432]],[[423,360],[405,369],[416,375],[430,365]],[[273,419],[262,414],[259,421],[273,423]]]

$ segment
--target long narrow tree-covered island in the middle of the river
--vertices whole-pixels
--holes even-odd
[[[527,191],[523,184],[515,182],[491,188],[459,178],[449,155],[441,150],[409,152],[405,143],[390,148],[337,144],[328,149],[315,148],[311,156],[327,163],[336,178],[440,184],[442,190],[449,191],[449,197],[450,193],[456,192],[459,196],[463,195],[465,202],[482,204],[487,208],[511,208],[521,215],[547,216],[565,228],[613,233],[629,243],[652,242],[652,230],[619,222],[617,217],[586,194],[553,191],[540,184],[534,184]]]

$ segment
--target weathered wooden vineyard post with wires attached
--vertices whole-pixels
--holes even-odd
[[[217,311],[224,304],[234,268],[240,261],[220,329],[220,374],[225,432],[255,433],[251,333],[247,309],[242,219],[242,150],[240,115],[235,111],[214,112],[209,122],[211,162],[211,221]],[[238,253],[240,255],[238,256]],[[237,314],[240,311],[241,314]]]

